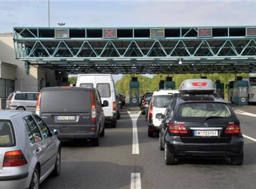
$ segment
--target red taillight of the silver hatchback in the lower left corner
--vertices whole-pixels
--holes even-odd
[[[8,151],[4,154],[3,167],[23,166],[28,162],[21,150]]]

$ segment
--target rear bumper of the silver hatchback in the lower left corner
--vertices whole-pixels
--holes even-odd
[[[15,176],[0,176],[0,188],[28,188],[30,183],[28,175],[29,173]]]

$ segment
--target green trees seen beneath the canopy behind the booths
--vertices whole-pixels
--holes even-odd
[[[248,76],[248,74],[238,74],[240,76]],[[237,75],[237,76],[238,76]],[[143,75],[135,75],[135,77],[138,77],[139,81],[139,93],[142,95],[145,92],[148,91],[155,91],[158,89],[160,80],[165,80],[167,74],[157,74],[154,75],[152,78],[143,76]],[[235,74],[228,73],[228,74],[172,74],[169,75],[172,77],[172,80],[175,81],[175,87],[176,89],[179,89],[179,86],[181,82],[185,79],[192,79],[192,78],[200,78],[201,76],[206,76],[208,79],[213,80],[214,82],[216,80],[220,80],[222,83],[224,83],[224,86],[228,84],[229,80],[232,80],[235,78]],[[131,80],[132,75],[123,75],[123,77],[118,80],[115,84],[118,93],[122,93],[124,95],[129,95],[129,83]],[[225,98],[227,98],[227,90],[225,90]]]

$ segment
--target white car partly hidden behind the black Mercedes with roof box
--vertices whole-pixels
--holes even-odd
[[[149,104],[148,113],[148,136],[152,137],[154,132],[159,131],[162,119],[156,118],[156,114],[164,114],[168,104],[171,102],[174,94],[178,94],[178,90],[159,90],[153,93]]]

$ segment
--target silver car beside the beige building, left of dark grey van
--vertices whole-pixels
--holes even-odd
[[[12,92],[6,101],[6,109],[36,111],[38,92]]]

